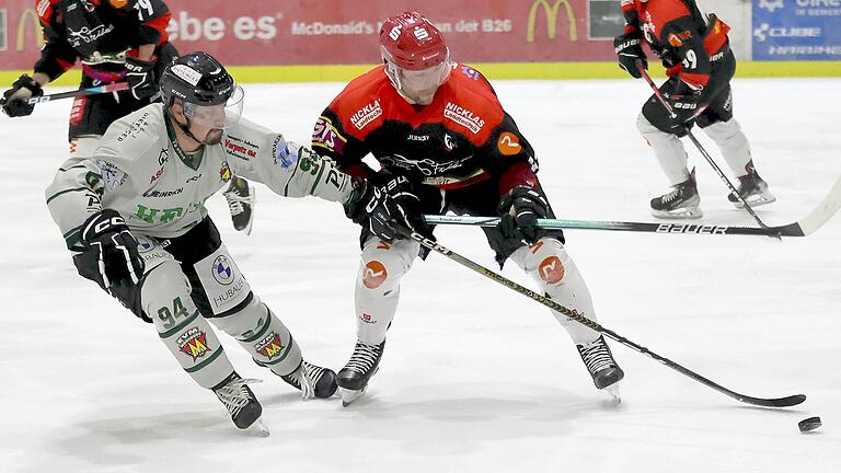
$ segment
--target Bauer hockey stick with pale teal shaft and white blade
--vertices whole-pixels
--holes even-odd
[[[561,220],[538,219],[538,226],[544,229],[614,230],[646,233],[694,233],[711,235],[761,235],[761,236],[806,236],[823,226],[841,208],[841,177],[829,189],[823,200],[806,217],[793,223],[780,227],[729,227],[701,223],[650,223],[603,220]],[[465,217],[426,215],[424,220],[433,224],[462,224],[496,227],[498,217]]]

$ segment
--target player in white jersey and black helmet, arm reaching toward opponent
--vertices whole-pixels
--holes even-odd
[[[335,373],[303,360],[289,330],[252,292],[205,200],[239,175],[283,196],[341,203],[385,236],[389,212],[399,208],[330,160],[240,119],[242,89],[205,53],[168,67],[161,93],[163,103],[113,123],[92,153],[67,161],[46,191],[47,205],[79,274],[153,323],[237,427],[267,432],[247,387],[254,380],[237,373],[208,322],[304,399],[332,396]]]

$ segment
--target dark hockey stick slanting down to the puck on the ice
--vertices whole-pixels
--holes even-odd
[[[500,285],[507,287],[508,289],[511,289],[511,290],[514,290],[516,292],[519,292],[519,293],[521,293],[521,295],[523,295],[523,296],[526,296],[526,297],[528,297],[528,298],[530,298],[530,299],[532,299],[534,301],[538,301],[541,304],[552,309],[553,311],[560,312],[560,313],[564,314],[565,316],[567,316],[567,318],[578,322],[579,324],[588,326],[588,327],[595,330],[596,332],[599,332],[599,333],[608,336],[609,338],[611,338],[611,339],[613,339],[615,342],[621,343],[622,345],[624,345],[624,346],[626,346],[629,348],[632,348],[632,349],[634,349],[634,350],[636,350],[636,351],[638,351],[638,353],[641,353],[643,355],[647,355],[648,357],[653,358],[655,361],[658,361],[661,365],[665,365],[665,366],[673,369],[675,371],[678,371],[679,373],[681,373],[681,374],[683,374],[686,377],[689,377],[689,378],[691,378],[691,379],[693,379],[693,380],[695,380],[695,381],[698,381],[698,382],[700,382],[702,384],[705,384],[706,387],[712,388],[712,389],[718,391],[719,393],[728,395],[728,396],[735,399],[736,401],[740,401],[740,402],[744,402],[744,403],[747,403],[747,404],[753,404],[753,405],[758,405],[758,406],[764,406],[764,407],[791,407],[791,406],[800,404],[804,401],[806,401],[806,395],[804,395],[804,394],[795,394],[795,395],[790,395],[790,396],[785,396],[785,397],[765,399],[765,397],[753,397],[753,396],[749,396],[749,395],[745,395],[745,394],[739,394],[739,393],[737,393],[735,391],[730,391],[727,388],[724,388],[723,385],[721,385],[721,384],[718,384],[716,382],[713,382],[713,381],[702,377],[701,374],[699,374],[699,373],[696,373],[696,372],[694,372],[694,371],[692,371],[692,370],[690,370],[688,368],[684,368],[684,367],[676,364],[675,361],[672,361],[672,360],[670,360],[670,359],[668,359],[666,357],[657,355],[656,353],[649,350],[648,348],[646,348],[646,347],[644,347],[642,345],[638,345],[638,344],[636,344],[634,342],[631,342],[630,339],[623,337],[622,335],[619,335],[618,333],[611,331],[610,328],[607,328],[607,327],[600,325],[599,323],[597,323],[597,322],[595,322],[595,321],[592,321],[590,319],[587,319],[586,316],[579,314],[577,311],[569,310],[569,309],[565,308],[564,305],[561,305],[560,303],[553,301],[552,299],[550,299],[548,297],[541,296],[541,295],[532,291],[531,289],[528,289],[528,288],[526,288],[523,286],[520,286],[519,284],[517,284],[517,282],[515,282],[515,281],[512,281],[512,280],[510,280],[508,278],[506,278],[505,276],[503,276],[503,275],[500,275],[498,273],[492,272],[491,269],[480,265],[479,263],[475,263],[475,262],[473,262],[471,259],[468,259],[464,256],[462,256],[462,255],[460,255],[460,254],[458,254],[458,253],[456,253],[456,252],[453,252],[451,250],[448,250],[447,247],[442,246],[440,243],[434,242],[434,241],[431,241],[431,240],[429,240],[427,238],[424,238],[422,234],[419,234],[417,232],[410,231],[410,230],[407,230],[405,228],[401,228],[400,226],[396,226],[396,224],[394,226],[394,229],[402,236],[415,240],[416,242],[420,243],[423,246],[425,246],[425,247],[427,247],[427,249],[429,249],[429,250],[431,250],[434,252],[440,253],[443,256],[447,256],[448,258],[454,261],[456,263],[459,263],[462,266],[465,266],[465,267],[468,267],[470,269],[473,269],[474,272],[481,274],[482,276],[485,276],[485,277],[487,277],[489,279],[493,279],[493,280],[499,282]]]

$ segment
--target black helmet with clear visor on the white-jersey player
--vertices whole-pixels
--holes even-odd
[[[207,53],[181,56],[161,74],[163,105],[169,108],[180,101],[189,120],[214,128],[224,128],[239,122],[242,99],[242,89],[224,66]],[[212,108],[220,108],[219,105],[224,107],[223,122],[219,113],[212,112]]]

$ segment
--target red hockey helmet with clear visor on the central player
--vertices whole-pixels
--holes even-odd
[[[380,54],[392,85],[412,104],[431,103],[452,70],[443,35],[416,12],[403,12],[382,23]]]

